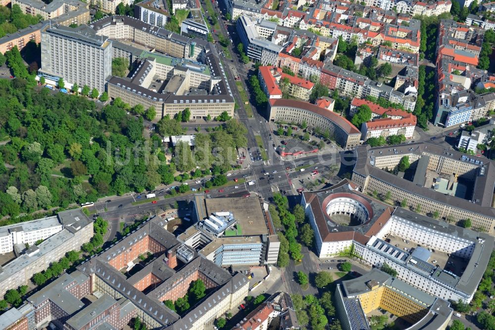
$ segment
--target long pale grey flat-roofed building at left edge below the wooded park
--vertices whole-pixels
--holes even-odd
[[[81,245],[89,242],[93,237],[93,221],[89,220],[80,209],[61,212],[57,217],[63,226],[62,230],[45,238],[42,243],[29,247],[19,257],[0,267],[0,295],[5,294],[9,289],[25,285],[34,274],[45,271],[51,263],[60,260],[65,253],[73,250],[79,251]],[[48,221],[53,222],[53,226],[43,230],[47,232],[58,230],[59,226],[55,225],[54,220]],[[12,230],[15,229],[12,227]],[[31,224],[27,224],[26,229],[33,230],[27,232],[18,230],[17,232],[26,239],[30,236],[31,240],[35,237],[40,237],[40,239],[44,237],[43,232],[34,230]],[[13,232],[12,236],[16,240],[19,239],[16,237],[16,232]]]

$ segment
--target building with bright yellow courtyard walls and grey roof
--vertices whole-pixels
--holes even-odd
[[[366,315],[383,309],[413,329],[446,329],[453,314],[449,303],[373,269],[337,285],[336,309],[342,329],[372,329]]]

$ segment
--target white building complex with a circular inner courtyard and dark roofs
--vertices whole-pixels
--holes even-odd
[[[394,210],[359,190],[358,184],[343,180],[329,189],[302,193],[301,204],[315,231],[320,258],[350,251],[377,268],[387,264],[397,271],[398,279],[430,295],[471,301],[494,247],[492,236],[402,208]],[[402,250],[387,243],[387,236],[411,240],[417,247]],[[466,266],[456,273],[444,270],[429,263],[432,253],[454,255]]]

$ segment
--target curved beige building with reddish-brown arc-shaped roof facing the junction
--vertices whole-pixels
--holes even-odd
[[[354,148],[359,145],[361,132],[346,118],[316,105],[287,99],[271,99],[268,102],[269,120],[302,123],[308,127],[318,127],[322,132],[328,130],[342,148]]]

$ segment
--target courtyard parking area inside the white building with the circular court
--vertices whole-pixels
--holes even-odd
[[[390,244],[395,245],[401,250],[407,248],[410,252],[412,248],[418,247],[418,242],[409,240],[409,243],[406,243],[404,242],[404,239],[399,236],[389,235],[387,236],[387,239],[390,239]],[[430,248],[429,246],[425,246],[425,245],[420,245],[420,246],[426,249]],[[428,260],[429,263],[433,265],[438,265],[440,268],[450,271],[456,275],[459,276],[462,275],[468,263],[467,260],[455,256],[448,256],[447,253],[437,251],[435,249],[432,249],[432,251],[430,251],[432,253],[430,259]]]

